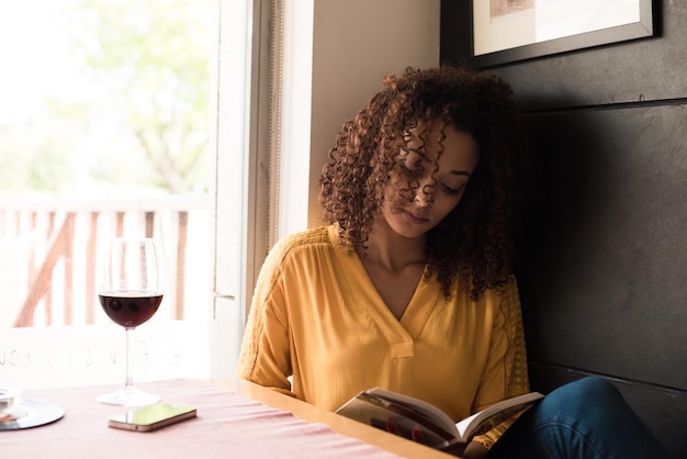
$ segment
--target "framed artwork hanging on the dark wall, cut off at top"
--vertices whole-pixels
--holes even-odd
[[[472,65],[653,36],[655,0],[470,0]]]

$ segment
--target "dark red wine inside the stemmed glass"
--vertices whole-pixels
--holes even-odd
[[[114,291],[98,295],[100,304],[115,323],[123,327],[136,327],[157,312],[162,295],[148,291]]]

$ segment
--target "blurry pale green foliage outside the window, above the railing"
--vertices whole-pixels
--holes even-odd
[[[0,94],[24,94],[0,107],[0,195],[206,191],[213,1],[19,3],[0,5],[26,22],[0,44]]]

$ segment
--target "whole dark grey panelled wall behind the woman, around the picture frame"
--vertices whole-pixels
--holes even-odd
[[[470,1],[443,0],[441,60],[470,57]],[[489,68],[542,165],[518,278],[534,389],[609,378],[687,458],[687,2],[658,36]]]

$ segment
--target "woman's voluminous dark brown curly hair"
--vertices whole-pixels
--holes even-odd
[[[325,221],[338,223],[341,245],[364,253],[408,130],[438,123],[470,133],[477,167],[460,203],[427,234],[428,275],[437,273],[446,296],[457,277],[471,282],[473,301],[487,288],[500,290],[513,275],[532,177],[510,87],[496,76],[448,66],[408,67],[383,85],[344,123],[329,150],[319,179]]]

